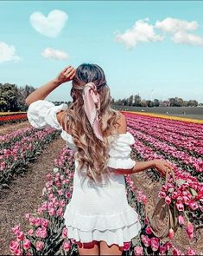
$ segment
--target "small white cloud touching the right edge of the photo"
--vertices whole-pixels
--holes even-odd
[[[193,34],[185,32],[174,33],[174,36],[171,38],[174,43],[186,43],[191,45],[203,45],[203,38]]]

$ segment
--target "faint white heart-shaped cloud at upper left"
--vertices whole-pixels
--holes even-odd
[[[44,36],[56,37],[67,22],[67,13],[62,10],[52,10],[48,16],[35,11],[29,21],[33,28]]]

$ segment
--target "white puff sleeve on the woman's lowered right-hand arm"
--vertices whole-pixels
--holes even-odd
[[[130,169],[136,165],[136,161],[130,158],[132,148],[130,146],[135,143],[135,139],[130,132],[120,134],[116,139],[111,141],[109,150],[108,167]]]

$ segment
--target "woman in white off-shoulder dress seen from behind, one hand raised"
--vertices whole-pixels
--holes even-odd
[[[63,82],[72,81],[73,102],[55,106],[44,98]],[[29,122],[35,128],[61,130],[75,151],[73,195],[64,213],[68,238],[79,255],[122,255],[124,242],[141,226],[126,197],[124,174],[155,167],[165,175],[167,161],[135,161],[125,116],[111,108],[104,70],[96,64],[69,66],[26,99]]]

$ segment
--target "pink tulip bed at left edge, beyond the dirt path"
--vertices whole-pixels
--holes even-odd
[[[26,171],[28,163],[35,160],[56,135],[51,129],[22,128],[0,136],[0,187],[9,187],[10,181]]]

